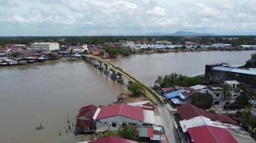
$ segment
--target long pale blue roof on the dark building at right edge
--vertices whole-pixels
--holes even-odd
[[[248,69],[237,69],[232,67],[224,67],[224,66],[214,66],[212,69],[218,70],[218,71],[229,71],[239,74],[251,74],[256,76],[256,70],[248,70]]]

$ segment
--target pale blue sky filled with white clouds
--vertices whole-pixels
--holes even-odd
[[[256,0],[0,0],[0,36],[256,35]]]

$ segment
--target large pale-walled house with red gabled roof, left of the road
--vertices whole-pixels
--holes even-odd
[[[97,132],[117,130],[122,126],[150,127],[155,124],[153,111],[128,104],[101,107],[96,117]]]

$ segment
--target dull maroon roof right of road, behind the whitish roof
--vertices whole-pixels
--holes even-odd
[[[193,117],[203,116],[213,121],[237,124],[237,121],[227,116],[226,114],[211,114],[206,112],[204,109],[198,108],[190,103],[183,104],[180,107],[177,107],[177,110],[182,119],[191,119]]]

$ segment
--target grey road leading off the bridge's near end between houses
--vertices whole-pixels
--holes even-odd
[[[157,109],[169,143],[180,142],[178,134],[175,131],[175,127],[173,127],[173,116],[170,114],[169,110],[160,102],[157,103]]]

